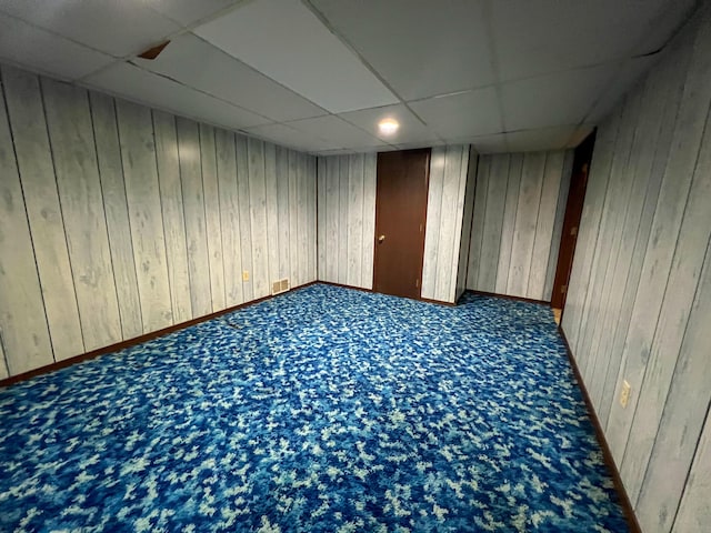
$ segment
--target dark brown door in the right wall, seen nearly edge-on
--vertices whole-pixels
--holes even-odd
[[[563,232],[560,238],[560,251],[558,252],[558,268],[555,269],[555,281],[553,282],[553,294],[551,296],[551,308],[555,309],[565,306],[568,283],[570,281],[570,271],[573,268],[573,255],[575,254],[580,218],[582,217],[585,189],[588,188],[588,171],[594,143],[595,132],[593,131],[575,149],[565,217],[563,219]]]

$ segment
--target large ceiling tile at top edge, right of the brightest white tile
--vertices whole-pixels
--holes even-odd
[[[482,1],[311,3],[404,100],[495,81]]]

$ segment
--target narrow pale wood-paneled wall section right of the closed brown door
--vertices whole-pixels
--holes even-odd
[[[458,295],[457,280],[468,168],[469,145],[432,149],[424,229],[422,298],[453,303]]]

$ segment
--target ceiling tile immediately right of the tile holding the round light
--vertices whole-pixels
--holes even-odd
[[[492,87],[419,100],[409,105],[442,139],[500,133],[503,130]]]

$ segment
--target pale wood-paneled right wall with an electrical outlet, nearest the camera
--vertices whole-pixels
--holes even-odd
[[[703,10],[600,127],[562,323],[645,532],[711,523],[711,4]]]

